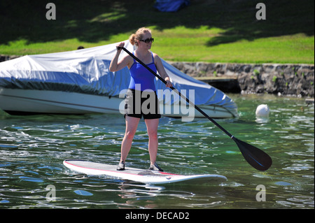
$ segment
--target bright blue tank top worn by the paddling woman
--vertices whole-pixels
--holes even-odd
[[[133,53],[134,54],[134,53]],[[152,71],[155,73],[157,72],[157,69],[154,64],[154,59],[153,59],[153,53],[152,54],[152,63],[146,64],[149,68],[151,68]],[[129,88],[130,89],[136,89],[137,85],[137,90],[144,91],[147,89],[151,89],[155,91],[155,84],[154,84],[154,79],[155,75],[148,71],[144,66],[136,62],[134,59],[134,63],[130,67],[130,84]],[[139,89],[139,85],[141,86],[141,89]]]

